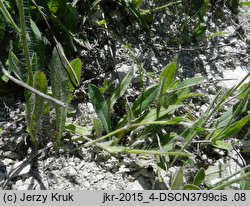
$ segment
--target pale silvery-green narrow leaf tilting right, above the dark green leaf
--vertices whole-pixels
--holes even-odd
[[[129,70],[128,74],[124,77],[122,82],[118,85],[118,87],[115,89],[114,93],[110,97],[110,100],[109,100],[109,109],[110,110],[113,108],[117,99],[120,98],[127,90],[128,86],[133,78],[133,75],[134,75],[134,69],[132,67],[132,69]]]

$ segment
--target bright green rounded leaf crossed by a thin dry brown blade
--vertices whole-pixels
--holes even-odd
[[[76,58],[70,62],[70,65],[72,66],[72,68],[76,74],[76,77],[78,79],[78,83],[77,83],[77,81],[75,79],[75,75],[73,74],[70,67],[67,66],[66,70],[67,70],[68,75],[69,75],[69,89],[70,89],[70,91],[74,91],[79,86],[79,82],[81,79],[82,62],[79,58]]]

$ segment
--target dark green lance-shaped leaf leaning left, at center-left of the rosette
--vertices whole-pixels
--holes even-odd
[[[104,129],[107,133],[109,133],[111,131],[109,107],[97,86],[93,84],[89,85],[89,97],[91,99],[96,114],[102,121]]]

